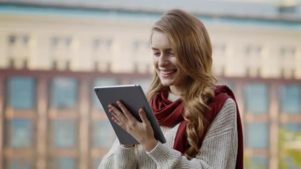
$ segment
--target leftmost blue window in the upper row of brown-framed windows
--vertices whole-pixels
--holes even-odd
[[[35,81],[30,77],[13,77],[8,80],[8,106],[15,109],[32,109],[35,104]]]

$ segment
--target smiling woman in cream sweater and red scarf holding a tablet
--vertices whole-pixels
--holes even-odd
[[[201,21],[183,10],[166,12],[152,28],[151,50],[156,73],[147,97],[167,142],[154,138],[143,109],[140,123],[121,102],[122,112],[108,105],[112,120],[141,144],[116,139],[99,168],[243,169],[239,111],[232,91],[215,85]]]

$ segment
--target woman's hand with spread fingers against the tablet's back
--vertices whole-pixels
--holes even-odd
[[[157,140],[153,136],[153,129],[145,111],[139,109],[139,116],[142,120],[141,123],[120,101],[117,101],[117,104],[122,112],[113,105],[108,105],[109,112],[113,115],[112,120],[131,134],[146,149],[146,151],[150,152],[157,145]]]

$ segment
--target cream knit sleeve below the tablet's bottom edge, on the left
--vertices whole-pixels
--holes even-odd
[[[98,169],[136,169],[135,148],[124,148],[118,138],[110,151],[102,158]]]

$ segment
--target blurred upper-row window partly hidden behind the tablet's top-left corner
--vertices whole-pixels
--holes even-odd
[[[106,85],[117,85],[118,84],[118,81],[116,79],[96,79],[93,83],[93,87],[96,87],[96,86],[106,86]],[[97,109],[97,110],[103,110],[101,104],[100,104],[100,100],[97,98],[97,95],[95,93],[95,91],[92,91],[92,99],[94,100],[93,103],[94,103],[94,107]]]

